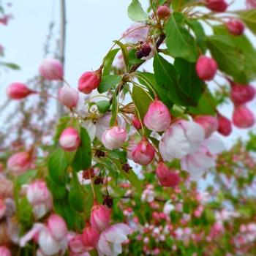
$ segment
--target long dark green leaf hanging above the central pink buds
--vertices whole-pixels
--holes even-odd
[[[187,96],[178,84],[178,71],[173,64],[162,58],[158,53],[154,56],[154,74],[157,84],[166,90],[167,97],[178,105],[195,105],[192,98]]]

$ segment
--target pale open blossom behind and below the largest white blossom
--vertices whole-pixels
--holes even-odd
[[[224,148],[222,140],[212,135],[211,138],[200,142],[200,148],[197,151],[181,159],[181,169],[189,172],[191,178],[197,181],[206,168],[216,165],[213,154],[220,153]]]

